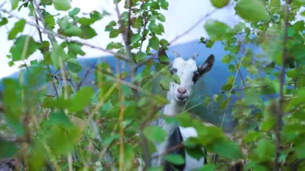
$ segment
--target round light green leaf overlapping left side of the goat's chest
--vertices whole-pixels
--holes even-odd
[[[154,125],[147,125],[143,129],[143,134],[145,137],[153,142],[161,143],[165,140],[165,137],[167,135],[166,131],[163,130],[159,126]]]

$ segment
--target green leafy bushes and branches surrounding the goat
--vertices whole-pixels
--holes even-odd
[[[16,168],[22,165],[28,170],[135,170],[136,158],[154,150],[151,142],[167,136],[162,128],[147,126],[168,102],[159,85],[166,89],[169,81],[179,82],[164,64],[169,59],[157,54],[171,43],[162,38],[166,21],[162,11],[171,4],[167,0],[114,0],[119,16],[104,30],[110,38],[122,39],[103,48],[84,40],[97,35],[92,24],[107,17],[106,11],[82,16],[69,0],[10,2],[14,12],[28,10],[36,22],[17,18],[10,28],[8,39],[14,44],[7,54],[8,64],[37,51],[43,59],[22,64],[19,79],[2,80],[0,157],[5,159],[0,159],[0,169],[15,160]],[[121,13],[117,3],[124,3]],[[232,5],[229,0],[211,3],[216,8]],[[65,15],[50,13],[50,5]],[[221,57],[228,65],[227,72],[235,76],[227,78],[222,92],[192,99],[188,106],[197,115],[202,115],[202,109],[213,109],[222,113],[223,120],[233,117],[233,137],[224,133],[224,121],[209,126],[189,112],[165,119],[196,128],[199,136],[184,143],[192,156],[205,155],[194,150],[197,145],[219,156],[215,162],[213,155],[208,157],[209,164],[201,170],[226,170],[238,162],[244,170],[305,169],[305,27],[296,17],[297,12],[305,15],[300,11],[305,1],[234,0],[233,5],[243,21],[230,27],[208,19],[204,28],[210,38],[198,40],[207,47],[221,41],[229,54],[216,57]],[[0,26],[4,27],[16,16],[1,6]],[[37,29],[39,39],[23,33],[26,24]],[[145,48],[144,42],[148,44]],[[262,50],[251,51],[250,43]],[[94,83],[85,85],[86,74],[78,75],[84,68],[77,57],[85,55],[82,47],[86,46],[113,53],[116,62],[125,63],[128,70],[118,64],[112,68],[107,62],[97,63],[90,68]],[[154,60],[158,56],[161,62]],[[251,76],[243,75],[241,68]],[[144,136],[138,136],[139,132]],[[185,162],[174,154],[166,159]]]

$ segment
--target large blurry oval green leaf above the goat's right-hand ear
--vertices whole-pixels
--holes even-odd
[[[205,28],[210,37],[215,40],[229,39],[235,34],[227,24],[214,19],[207,20]]]

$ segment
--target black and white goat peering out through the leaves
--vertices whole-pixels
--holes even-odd
[[[159,51],[159,55],[166,55],[164,49]],[[174,61],[168,64],[169,70],[172,74],[176,74],[180,78],[180,84],[176,82],[170,82],[170,89],[167,92],[167,99],[170,101],[162,108],[162,112],[168,116],[174,116],[182,112],[187,104],[188,98],[192,95],[194,85],[196,81],[205,73],[210,71],[215,61],[215,57],[211,54],[205,62],[199,67],[196,64],[194,58],[184,60],[180,55],[176,55]],[[164,166],[165,170],[192,170],[200,168],[206,162],[206,158],[200,159],[192,158],[187,154],[184,148],[175,149],[172,153],[181,154],[185,163],[181,165],[171,165],[164,160],[164,153],[171,147],[181,144],[184,140],[191,136],[197,136],[197,131],[193,127],[182,127],[177,124],[169,124],[163,118],[152,121],[150,124],[158,125],[162,127],[168,133],[168,137],[162,143],[155,143],[156,152],[151,157],[151,166]]]

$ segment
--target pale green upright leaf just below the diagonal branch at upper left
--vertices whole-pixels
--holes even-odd
[[[61,58],[61,61],[59,60]],[[51,60],[53,65],[56,68],[60,68],[60,62],[63,62],[62,64],[64,64],[64,62],[66,61],[66,59],[68,59],[68,55],[67,53],[64,51],[64,49],[57,43],[57,42],[53,42],[52,43],[52,51],[51,51]]]

